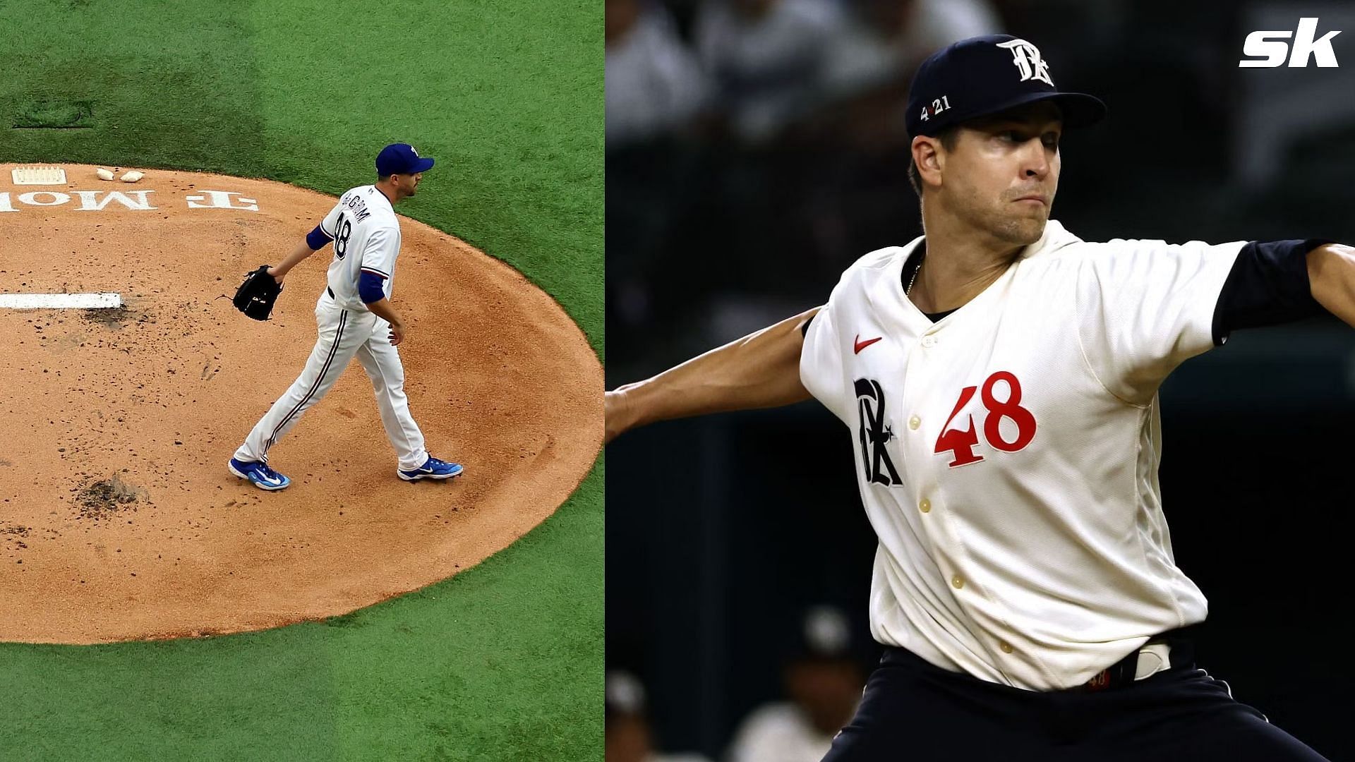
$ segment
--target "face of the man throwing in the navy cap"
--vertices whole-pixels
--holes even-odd
[[[943,203],[1000,241],[1038,241],[1058,190],[1062,130],[1058,107],[1047,102],[965,122],[946,153]]]

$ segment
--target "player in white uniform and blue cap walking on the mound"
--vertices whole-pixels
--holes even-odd
[[[283,489],[291,480],[268,465],[268,450],[291,430],[310,405],[333,388],[354,357],[371,378],[381,423],[396,449],[396,473],[405,481],[451,479],[461,465],[440,461],[424,449],[423,433],[409,415],[405,370],[396,347],[408,327],[390,305],[390,285],[400,255],[400,221],[394,205],[415,195],[423,174],[432,168],[406,144],[388,145],[377,155],[377,183],[339,197],[339,203],[306,235],[305,243],[268,274],[282,283],[289,270],[333,241],[329,282],[316,301],[318,339],[305,370],[245,437],[228,464],[230,473],[260,489]]]

